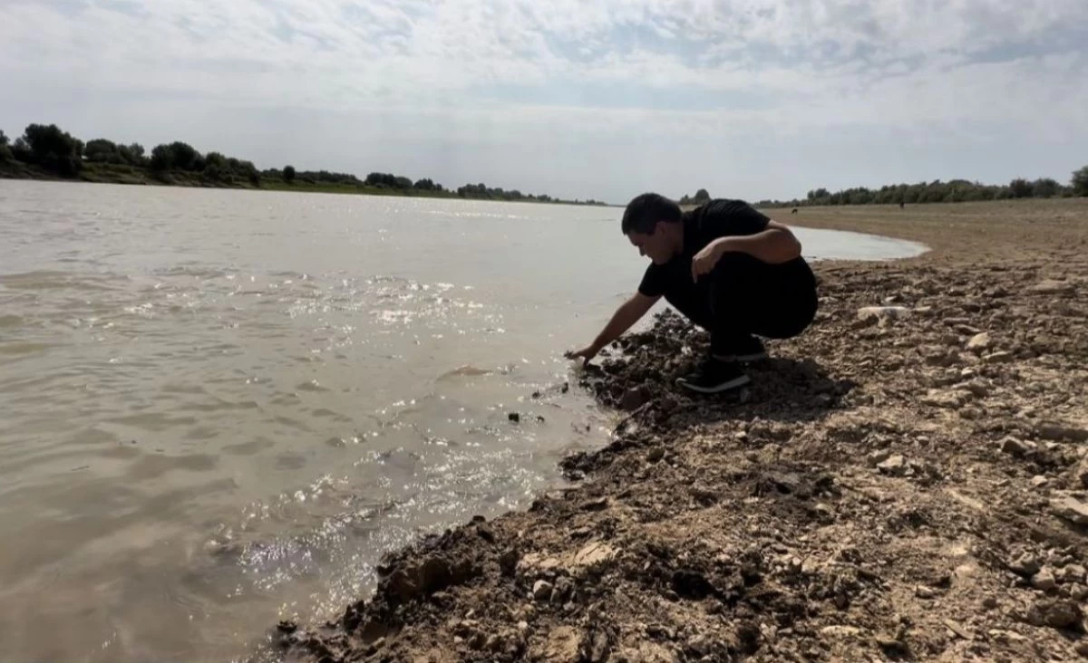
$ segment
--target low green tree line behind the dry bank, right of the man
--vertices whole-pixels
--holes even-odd
[[[928,183],[887,185],[879,189],[854,187],[832,192],[819,188],[808,191],[803,200],[762,200],[758,204],[764,207],[919,204],[1074,197],[1088,197],[1088,166],[1075,171],[1068,185],[1062,185],[1050,177],[1040,177],[1034,182],[1017,177],[1007,185],[987,185],[966,179],[949,182],[935,179]]]

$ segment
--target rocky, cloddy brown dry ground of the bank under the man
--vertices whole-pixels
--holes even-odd
[[[1088,659],[1088,204],[994,210],[821,264],[739,396],[677,390],[706,339],[676,316],[626,338],[581,376],[628,413],[574,488],[391,555],[287,659]]]

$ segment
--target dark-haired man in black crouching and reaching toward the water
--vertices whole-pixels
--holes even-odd
[[[627,205],[621,227],[651,264],[639,291],[590,346],[567,352],[570,359],[589,362],[665,297],[710,333],[709,356],[679,384],[717,393],[749,384],[741,364],[767,356],[756,336],[792,338],[816,315],[816,277],[801,242],[746,202],[717,199],[681,212],[664,196],[643,193]]]

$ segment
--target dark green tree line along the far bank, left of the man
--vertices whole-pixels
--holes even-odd
[[[410,196],[460,197],[484,200],[574,202],[580,204],[605,204],[596,200],[566,201],[551,196],[524,195],[521,191],[492,188],[483,184],[467,184],[449,190],[431,179],[412,182],[408,177],[392,173],[371,173],[360,180],[349,173],[329,171],[296,171],[292,165],[282,170],[259,171],[251,161],[226,157],[220,152],[201,154],[193,146],[174,141],[158,145],[146,154],[138,143],[122,145],[104,138],[84,142],[55,124],[32,124],[23,136],[10,143],[0,130],[0,172],[5,163],[21,162],[37,166],[46,173],[60,177],[78,177],[88,166],[114,172],[143,172],[151,178],[171,184],[181,178],[188,184],[207,186],[250,186],[261,187],[262,183],[286,186],[334,186],[355,188],[359,192],[391,192]]]

